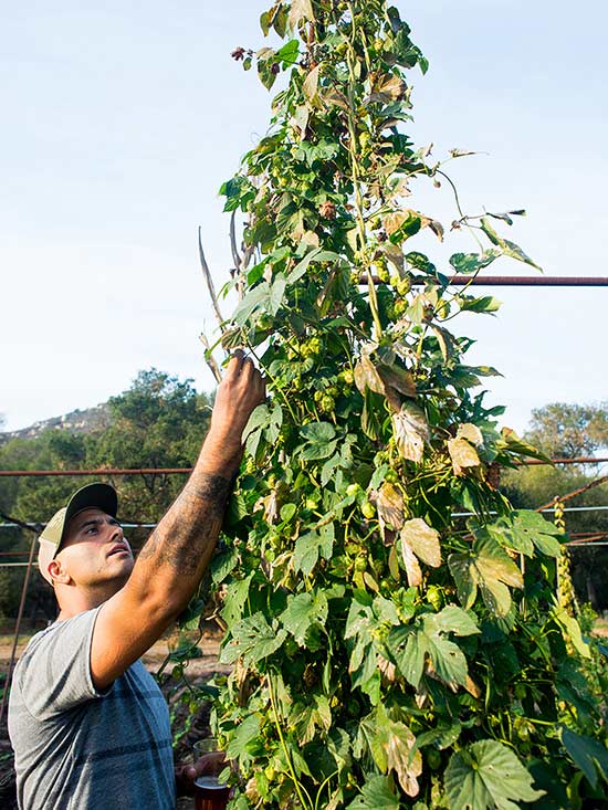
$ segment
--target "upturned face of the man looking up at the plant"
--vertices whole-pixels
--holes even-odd
[[[134,566],[120,524],[97,508],[84,509],[70,520],[56,559],[74,583],[85,588],[114,582],[119,589]]]

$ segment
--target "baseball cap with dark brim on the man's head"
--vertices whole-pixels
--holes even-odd
[[[70,520],[83,509],[97,508],[106,515],[116,517],[118,508],[118,496],[116,490],[109,484],[87,484],[75,492],[67,505],[55,512],[46,524],[44,532],[40,535],[38,549],[38,566],[40,572],[48,582],[53,583],[49,574],[49,562],[55,558],[60,550]]]

